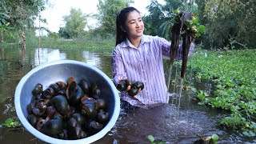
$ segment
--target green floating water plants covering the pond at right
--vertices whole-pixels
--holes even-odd
[[[255,54],[256,50],[198,50],[190,62],[198,81],[211,80],[214,84],[212,98],[199,91],[201,104],[230,111],[221,119],[221,125],[246,130],[248,134],[256,133]]]

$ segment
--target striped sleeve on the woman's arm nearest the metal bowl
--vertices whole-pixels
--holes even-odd
[[[119,80],[124,80],[127,78],[126,69],[122,61],[122,55],[118,49],[114,50],[113,57],[111,60],[112,66],[112,76],[115,85],[118,84]]]

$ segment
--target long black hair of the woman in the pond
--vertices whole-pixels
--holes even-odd
[[[127,38],[127,34],[126,32],[124,32],[121,29],[121,26],[123,28],[126,27],[126,19],[127,16],[130,12],[132,11],[137,11],[138,13],[140,13],[137,9],[135,9],[134,7],[126,7],[124,9],[122,9],[118,14],[117,14],[117,18],[116,18],[116,36],[115,36],[115,46],[117,46],[119,43],[123,42],[126,40]]]

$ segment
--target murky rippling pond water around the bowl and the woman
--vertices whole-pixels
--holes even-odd
[[[71,59],[86,62],[102,70],[111,78],[111,55],[90,53],[84,50],[0,49],[0,124],[6,118],[15,118],[14,90],[20,79],[31,69],[45,62]],[[167,70],[167,69],[166,69]],[[175,70],[173,72],[175,74]],[[210,90],[210,84],[194,83],[198,89]],[[173,90],[170,87],[170,92]],[[209,91],[210,92],[210,91]],[[122,110],[118,122],[108,134],[94,143],[150,143],[147,135],[166,143],[193,143],[197,134],[206,138],[218,134],[218,143],[254,143],[253,138],[244,138],[237,131],[222,130],[218,119],[224,115],[190,99],[182,92],[170,98],[170,103],[150,110]],[[21,128],[0,126],[0,143],[44,143]]]

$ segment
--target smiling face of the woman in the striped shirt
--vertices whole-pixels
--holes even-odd
[[[127,15],[125,31],[128,38],[138,38],[142,36],[144,23],[138,11],[134,10]]]

